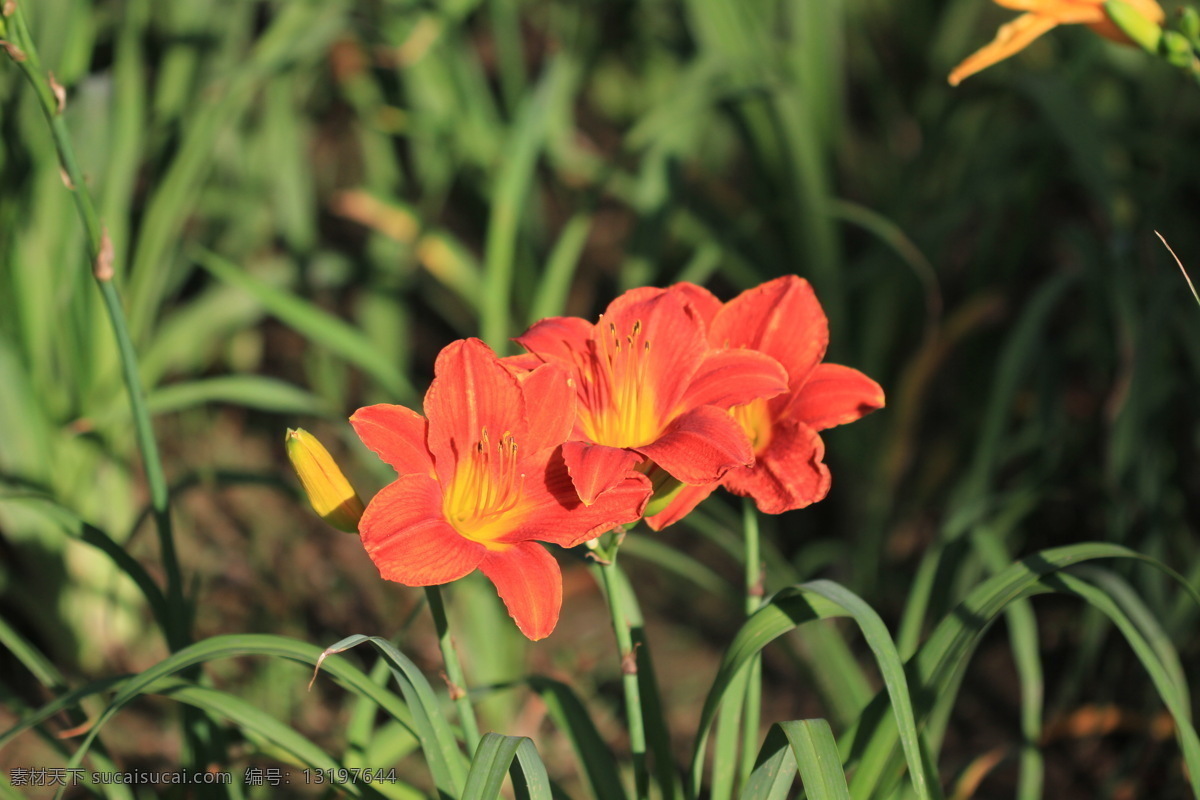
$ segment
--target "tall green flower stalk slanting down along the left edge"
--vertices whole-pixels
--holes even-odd
[[[146,481],[150,485],[150,504],[154,509],[163,569],[167,573],[167,630],[164,633],[172,650],[178,650],[190,642],[188,628],[191,626],[187,620],[182,573],[179,569],[175,539],[172,531],[170,498],[167,492],[162,459],[158,456],[158,445],[154,438],[154,427],[150,423],[150,413],[146,409],[145,393],[142,389],[137,354],[133,350],[133,341],[125,320],[125,309],[121,307],[116,287],[113,285],[112,242],[108,241],[108,233],[100,221],[100,215],[96,213],[96,205],[88,192],[83,170],[79,169],[74,146],[71,144],[71,137],[62,119],[61,101],[60,96],[55,95],[55,90],[59,92],[64,92],[64,90],[42,68],[37,48],[25,26],[19,5],[12,10],[12,16],[4,20],[0,32],[11,38],[11,47],[7,48],[8,55],[25,73],[42,106],[42,112],[50,126],[50,134],[54,138],[54,146],[59,152],[59,162],[70,181],[68,188],[74,197],[76,209],[88,235],[88,254],[92,264],[92,277],[100,287],[104,309],[108,312],[109,324],[116,337],[116,347],[121,357],[121,373],[133,415],[134,433],[145,465]]]

